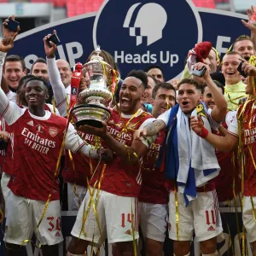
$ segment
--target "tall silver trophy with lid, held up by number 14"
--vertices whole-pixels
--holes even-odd
[[[102,121],[110,119],[109,104],[112,101],[112,93],[109,90],[115,79],[119,81],[119,73],[114,71],[100,56],[101,49],[96,49],[96,55],[91,61],[84,64],[83,74],[90,78],[90,87],[79,93],[79,105],[71,110],[74,124],[102,127]]]

